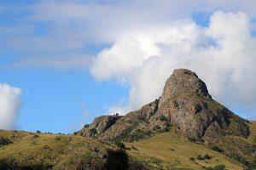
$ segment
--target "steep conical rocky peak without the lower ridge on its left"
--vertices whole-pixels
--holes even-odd
[[[249,134],[245,120],[213,100],[205,82],[186,69],[173,71],[167,79],[158,114],[169,116],[189,139]]]

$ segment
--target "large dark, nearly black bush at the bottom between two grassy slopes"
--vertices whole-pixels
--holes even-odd
[[[129,169],[128,155],[125,150],[108,150],[104,168],[106,170]]]

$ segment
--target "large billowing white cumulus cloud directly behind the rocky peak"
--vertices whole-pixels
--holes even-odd
[[[218,11],[204,28],[180,20],[126,32],[96,56],[90,72],[98,80],[115,78],[130,85],[128,105],[111,111],[131,111],[158,98],[166,78],[180,67],[196,71],[225,105],[253,107],[255,48],[247,14]]]

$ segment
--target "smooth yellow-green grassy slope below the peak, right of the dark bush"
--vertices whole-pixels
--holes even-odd
[[[144,164],[149,162],[151,169],[205,169],[218,165],[224,165],[227,169],[243,169],[238,161],[201,144],[189,142],[173,131],[125,145],[131,148],[131,156]],[[206,155],[211,158],[204,158]]]

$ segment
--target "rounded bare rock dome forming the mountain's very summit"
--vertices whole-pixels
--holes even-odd
[[[176,69],[166,81],[160,104],[167,99],[178,97],[180,94],[198,93],[211,99],[208,94],[207,85],[197,77],[195,72],[188,69]]]

